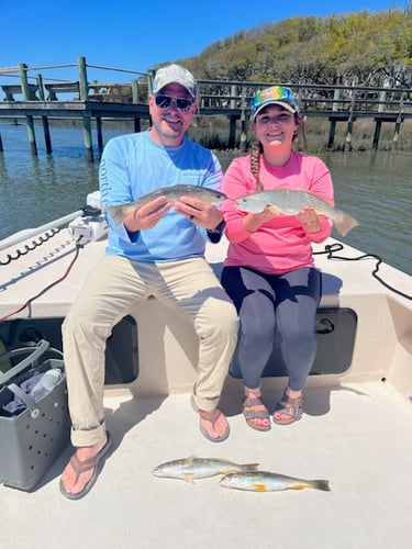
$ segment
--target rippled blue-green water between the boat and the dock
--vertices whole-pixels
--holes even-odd
[[[104,141],[124,130],[103,128]],[[30,153],[24,125],[0,124],[0,239],[79,210],[98,189],[99,163],[85,159],[79,128],[52,127],[53,155],[47,156],[41,127],[38,156]],[[97,136],[93,135],[93,143]],[[98,154],[96,154],[98,156]],[[218,155],[223,168],[233,154]],[[337,208],[360,226],[338,239],[412,274],[412,152],[326,153]]]

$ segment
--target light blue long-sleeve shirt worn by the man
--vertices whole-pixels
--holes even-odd
[[[165,147],[148,132],[114,137],[105,145],[99,169],[104,206],[133,202],[160,187],[193,184],[220,190],[222,168],[215,155],[185,138],[178,147]],[[174,209],[151,229],[135,233],[109,214],[110,256],[156,262],[204,255],[207,231]]]

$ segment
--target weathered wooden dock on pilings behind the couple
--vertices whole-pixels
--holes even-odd
[[[2,70],[0,69],[0,75]],[[102,121],[133,120],[134,130],[141,130],[141,121],[149,120],[147,93],[152,90],[153,74],[141,74],[130,82],[92,82],[87,79],[86,59],[78,61],[79,79],[76,81],[48,82],[27,81],[27,68],[20,66],[20,83],[1,85],[4,100],[0,102],[0,120],[24,120],[31,152],[37,154],[35,120],[43,122],[47,154],[52,153],[48,127],[49,119],[79,119],[85,130],[85,150],[88,160],[93,160],[91,122],[96,121],[98,146],[103,145]],[[268,82],[241,82],[198,80],[197,116],[219,116],[229,121],[229,148],[236,144],[242,149],[250,122],[249,104],[253,94]],[[393,142],[398,139],[401,125],[412,119],[411,88],[366,88],[347,86],[289,86],[297,97],[300,111],[307,117],[323,117],[330,123],[327,148],[333,148],[336,126],[346,124],[345,146],[350,149],[354,123],[359,119],[375,122],[372,148],[377,149],[382,124],[393,124]],[[67,96],[70,94],[69,100]],[[63,96],[65,96],[63,98]],[[240,133],[240,135],[236,134]],[[0,135],[0,153],[3,150]]]

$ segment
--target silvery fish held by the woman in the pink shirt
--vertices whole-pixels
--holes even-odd
[[[359,225],[355,217],[332,208],[325,200],[311,192],[291,189],[272,189],[253,192],[240,197],[235,201],[236,208],[243,212],[259,213],[270,208],[275,214],[283,213],[296,215],[303,208],[313,208],[316,215],[331,217],[336,231],[345,236],[350,228]]]

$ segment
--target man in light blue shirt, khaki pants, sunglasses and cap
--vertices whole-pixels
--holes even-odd
[[[180,183],[219,189],[222,170],[216,157],[186,136],[196,97],[194,79],[183,67],[157,71],[148,97],[152,127],[114,137],[104,148],[99,175],[104,206]],[[193,323],[199,373],[192,406],[207,438],[221,441],[229,436],[218,403],[238,318],[203,257],[205,240],[219,240],[224,229],[221,212],[192,195],[175,202],[163,195],[130,212],[120,224],[108,214],[108,223],[105,255],[63,325],[71,442],[77,450],[62,475],[60,491],[73,500],[90,491],[111,444],[103,410],[105,340],[127,307],[149,295],[182,310]]]

